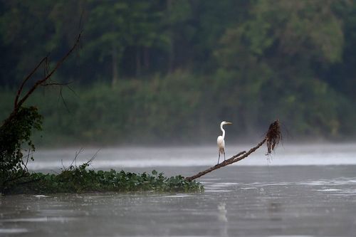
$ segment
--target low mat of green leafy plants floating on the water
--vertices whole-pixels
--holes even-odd
[[[187,181],[181,175],[164,177],[153,170],[143,172],[94,171],[88,164],[70,167],[61,174],[32,173],[23,178],[22,184],[6,191],[6,194],[83,193],[90,191],[158,191],[201,192],[204,187],[197,181]]]

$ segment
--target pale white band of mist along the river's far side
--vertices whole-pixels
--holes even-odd
[[[254,144],[234,146],[226,144],[226,159],[241,151],[248,151]],[[80,148],[39,149],[35,162],[28,164],[32,170],[69,166]],[[93,169],[124,169],[126,167],[211,167],[217,162],[217,148],[197,147],[112,147],[83,148],[77,163],[88,161],[94,155]],[[356,143],[343,144],[280,144],[276,152],[266,156],[266,147],[259,148],[239,166],[289,166],[289,165],[348,165],[356,164]],[[224,157],[221,157],[224,159]],[[73,163],[75,164],[75,163]]]

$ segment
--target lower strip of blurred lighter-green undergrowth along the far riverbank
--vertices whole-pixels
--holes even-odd
[[[58,88],[46,88],[31,98],[31,104],[45,117],[43,131],[35,133],[34,141],[51,147],[199,144],[216,137],[221,120],[234,121],[230,139],[246,141],[259,138],[266,123],[276,117],[283,121],[288,140],[352,139],[355,135],[355,105],[326,83],[310,80],[300,85],[300,90],[281,90],[272,100],[264,90],[268,82],[258,86],[256,97],[236,94],[229,85],[180,71],[166,77],[122,81],[115,88],[96,83],[90,88],[73,88],[75,93],[63,90],[66,105]],[[220,97],[226,99],[218,100]],[[11,110],[14,91],[7,90],[0,98],[7,101],[0,105],[4,117]],[[307,98],[308,102],[302,102]]]

